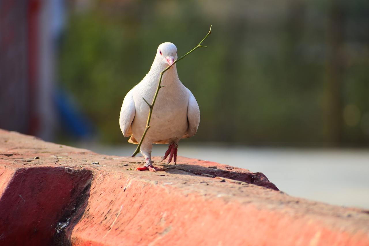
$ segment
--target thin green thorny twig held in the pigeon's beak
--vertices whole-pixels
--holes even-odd
[[[197,48],[207,48],[207,46],[203,46],[201,45],[201,43],[207,38],[208,35],[211,34],[211,25],[210,25],[210,30],[208,32],[208,34],[206,34],[206,36],[203,38],[203,40],[201,40],[200,44],[198,44],[195,48],[193,48],[191,51],[187,52],[185,55],[183,55],[182,57],[180,57],[179,59],[176,59],[172,65],[168,66],[166,69],[164,69],[161,73],[160,73],[160,78],[159,78],[159,84],[158,84],[158,88],[156,88],[156,92],[155,92],[155,95],[154,95],[154,99],[152,100],[152,103],[149,104],[144,98],[144,101],[147,103],[147,105],[149,106],[150,108],[150,111],[149,111],[149,116],[147,117],[147,123],[146,123],[146,129],[144,131],[144,133],[142,134],[142,137],[141,137],[141,140],[139,141],[138,143],[138,146],[135,150],[135,152],[132,154],[132,157],[136,156],[138,153],[139,153],[139,149],[141,148],[141,144],[142,142],[144,141],[144,138],[145,138],[145,135],[147,133],[147,130],[149,130],[150,128],[150,120],[151,120],[151,115],[152,115],[152,109],[154,108],[154,104],[155,104],[155,101],[156,101],[156,97],[158,96],[158,93],[159,93],[159,90],[160,88],[164,87],[161,85],[161,81],[162,81],[162,78],[163,78],[163,74],[168,71],[168,69],[170,69],[174,64],[176,64],[178,61],[182,60],[184,57],[186,57],[187,55],[189,55],[191,52],[195,51]]]

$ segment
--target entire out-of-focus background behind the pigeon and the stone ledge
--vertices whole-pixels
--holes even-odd
[[[177,64],[201,111],[179,155],[369,208],[367,0],[1,0],[0,128],[129,156],[125,94],[159,44],[184,55],[210,25]]]

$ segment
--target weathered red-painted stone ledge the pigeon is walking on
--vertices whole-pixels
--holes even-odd
[[[0,130],[0,245],[369,245],[369,211],[228,165],[142,161]]]

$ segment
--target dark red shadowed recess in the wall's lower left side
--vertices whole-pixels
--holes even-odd
[[[69,245],[73,227],[86,209],[91,180],[92,172],[68,167],[15,172],[2,187],[2,244]]]

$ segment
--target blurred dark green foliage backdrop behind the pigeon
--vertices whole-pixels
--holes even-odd
[[[101,141],[128,140],[121,103],[158,45],[173,42],[181,56],[212,24],[208,48],[177,64],[200,106],[193,141],[369,144],[368,1],[101,0],[69,14],[61,83]],[[347,124],[351,108],[359,119]]]

